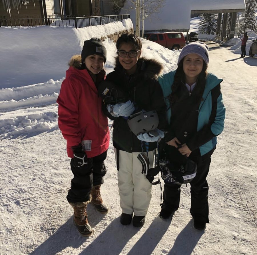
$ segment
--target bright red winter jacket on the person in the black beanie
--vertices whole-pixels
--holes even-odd
[[[80,70],[81,56],[75,55],[69,62],[66,78],[57,98],[58,124],[67,140],[67,153],[73,158],[72,146],[88,141],[91,148],[85,151],[87,157],[95,157],[109,147],[110,133],[107,117],[102,112],[102,99],[86,69]],[[104,79],[105,73],[97,74]]]

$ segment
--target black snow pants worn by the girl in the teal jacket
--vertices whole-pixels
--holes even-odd
[[[208,183],[206,177],[209,172],[211,157],[198,163],[196,177],[190,182],[191,208],[194,219],[205,220],[209,223]],[[178,210],[181,185],[165,183],[163,191],[162,209],[173,212]]]

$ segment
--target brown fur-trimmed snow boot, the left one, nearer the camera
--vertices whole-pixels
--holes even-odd
[[[73,222],[83,236],[90,236],[92,228],[87,221],[87,202],[69,203],[74,209]]]

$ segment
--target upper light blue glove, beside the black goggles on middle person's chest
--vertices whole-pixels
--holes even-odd
[[[120,103],[115,105],[108,104],[107,110],[113,117],[120,117],[120,116],[128,117],[134,112],[135,107],[133,102],[129,100],[125,103]]]

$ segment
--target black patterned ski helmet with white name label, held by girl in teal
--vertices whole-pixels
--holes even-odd
[[[196,162],[187,159],[185,165],[176,165],[169,160],[160,160],[161,177],[166,183],[185,184],[194,179],[197,172]]]

